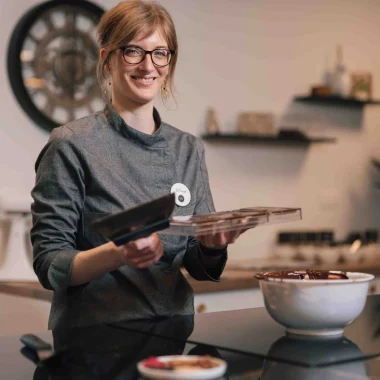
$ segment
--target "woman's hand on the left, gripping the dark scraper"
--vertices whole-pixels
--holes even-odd
[[[115,250],[120,255],[122,265],[140,269],[157,263],[164,253],[164,247],[156,233],[119,247],[115,245]]]

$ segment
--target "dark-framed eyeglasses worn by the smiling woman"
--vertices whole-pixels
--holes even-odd
[[[126,63],[136,65],[141,63],[147,54],[150,55],[152,62],[156,66],[167,66],[175,53],[174,50],[158,48],[154,50],[144,50],[137,46],[122,46],[120,50],[123,52],[123,58]]]

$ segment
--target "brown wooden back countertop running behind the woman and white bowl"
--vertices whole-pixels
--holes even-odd
[[[309,269],[326,269],[326,266],[308,264]],[[258,260],[257,264],[247,265],[229,263],[220,282],[196,281],[184,271],[184,275],[194,289],[195,294],[214,293],[229,290],[255,289],[259,287],[259,282],[254,278],[254,274],[259,271],[271,271],[281,269],[304,269],[302,262],[281,262],[276,260]],[[380,261],[365,262],[361,264],[342,264],[334,266],[335,270],[346,272],[364,272],[375,276],[380,275]],[[51,301],[53,293],[44,289],[38,281],[0,281],[0,293],[12,294],[22,297],[35,298]],[[370,291],[371,293],[371,291]]]

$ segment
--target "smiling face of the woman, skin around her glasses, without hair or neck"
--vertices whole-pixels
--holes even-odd
[[[167,41],[160,30],[146,37],[138,34],[127,46],[144,50],[168,49]],[[146,104],[153,102],[157,92],[164,84],[169,65],[160,67],[146,54],[141,63],[129,64],[123,58],[121,49],[116,50],[110,59],[109,70],[112,77],[112,99],[118,104]]]

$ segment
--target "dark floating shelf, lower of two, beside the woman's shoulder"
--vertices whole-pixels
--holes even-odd
[[[210,142],[266,143],[276,145],[309,145],[310,143],[335,143],[335,138],[309,138],[304,136],[252,136],[242,134],[204,134],[202,139]]]

